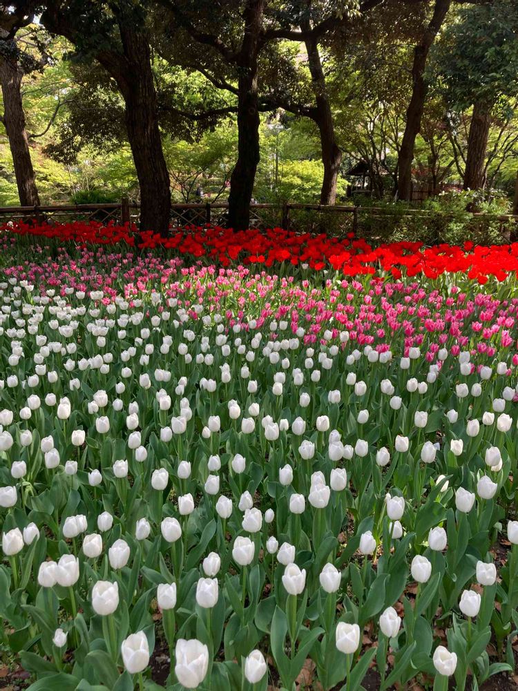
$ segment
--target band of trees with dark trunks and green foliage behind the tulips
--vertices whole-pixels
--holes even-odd
[[[514,0],[0,3],[0,202],[511,198]],[[350,178],[349,178],[350,179]],[[363,189],[361,190],[363,191]],[[196,193],[198,192],[198,197]]]

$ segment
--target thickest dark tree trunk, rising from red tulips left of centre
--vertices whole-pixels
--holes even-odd
[[[143,32],[119,23],[129,74],[119,84],[126,106],[128,141],[140,187],[140,230],[169,233],[171,187],[158,126],[157,95],[149,42]],[[128,78],[129,77],[129,78]]]

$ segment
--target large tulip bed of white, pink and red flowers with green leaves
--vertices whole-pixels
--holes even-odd
[[[75,237],[3,269],[0,612],[30,688],[512,671],[517,247],[384,266],[290,235],[270,274],[273,237],[222,238]]]

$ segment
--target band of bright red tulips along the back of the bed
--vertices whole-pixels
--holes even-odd
[[[486,283],[488,276],[503,281],[518,271],[518,243],[488,247],[473,243],[465,243],[462,247],[446,244],[424,247],[423,243],[401,242],[374,248],[352,234],[336,238],[325,234],[297,234],[281,228],[235,233],[220,227],[173,229],[171,235],[164,238],[151,231],[139,234],[128,225],[102,225],[93,221],[61,225],[10,223],[1,226],[1,230],[4,237],[8,234],[36,236],[81,246],[126,243],[138,249],[168,249],[173,254],[224,267],[233,264],[271,267],[289,262],[316,270],[335,269],[347,276],[383,271],[396,278],[403,270],[407,276],[424,274],[428,278],[437,278],[445,272],[463,272],[479,283]]]

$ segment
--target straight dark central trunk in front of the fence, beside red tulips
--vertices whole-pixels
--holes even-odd
[[[248,0],[244,10],[244,37],[237,67],[238,160],[230,178],[229,227],[245,230],[250,224],[250,200],[259,151],[258,54],[266,0]]]

